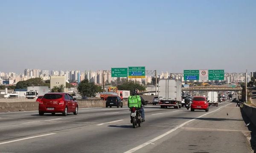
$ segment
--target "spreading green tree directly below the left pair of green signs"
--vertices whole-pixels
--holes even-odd
[[[135,81],[126,81],[125,83],[118,85],[117,88],[119,90],[130,90],[131,93],[133,93],[134,89],[139,89],[140,91],[143,91],[146,89],[145,86]]]

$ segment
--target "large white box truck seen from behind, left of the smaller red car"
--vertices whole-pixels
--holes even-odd
[[[161,108],[181,108],[181,85],[176,79],[160,79],[158,83],[158,104]]]

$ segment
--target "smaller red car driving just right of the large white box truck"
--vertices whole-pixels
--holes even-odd
[[[209,111],[209,104],[205,97],[194,97],[191,103],[191,111],[194,110],[205,110]]]

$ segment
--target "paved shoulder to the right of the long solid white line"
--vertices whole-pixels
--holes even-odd
[[[244,125],[240,108],[230,103],[185,124],[137,153],[169,153],[169,148],[177,153],[250,153],[250,145],[244,136],[250,131]]]

